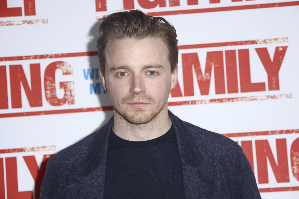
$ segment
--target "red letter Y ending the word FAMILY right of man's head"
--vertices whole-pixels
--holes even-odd
[[[287,51],[287,46],[280,46],[275,48],[273,61],[271,61],[267,48],[256,48],[255,51],[259,55],[263,67],[268,75],[268,88],[269,90],[279,90],[279,76],[282,60]]]

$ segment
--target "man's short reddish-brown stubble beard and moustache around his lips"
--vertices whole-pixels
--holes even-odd
[[[166,106],[167,104],[167,100],[169,97],[169,93],[170,93],[170,85],[168,86],[166,92],[162,95],[163,98],[161,99],[162,102],[157,104],[157,102],[154,100],[154,98],[152,98],[149,95],[146,94],[141,94],[141,95],[134,95],[134,94],[130,94],[128,96],[125,96],[121,99],[121,105],[127,105],[130,102],[133,101],[142,101],[142,102],[147,102],[150,103],[150,106],[155,106],[155,104],[159,105],[158,107],[153,107],[151,109],[150,113],[146,113],[145,109],[135,109],[134,111],[130,111],[130,113],[124,109],[121,109],[121,106],[118,106],[115,102],[116,100],[114,99],[114,97],[111,95],[111,93],[109,91],[107,91],[110,102],[115,110],[116,113],[118,113],[123,119],[125,119],[128,123],[130,124],[135,124],[135,125],[139,125],[139,124],[147,124],[150,121],[152,121],[161,111],[162,109]]]

